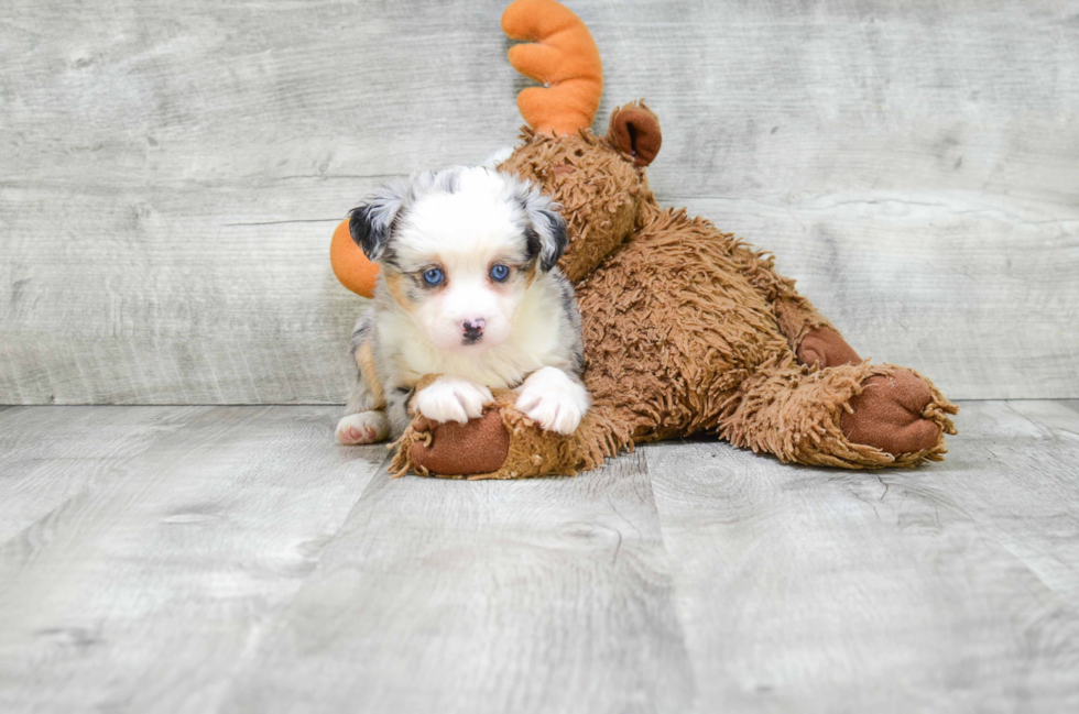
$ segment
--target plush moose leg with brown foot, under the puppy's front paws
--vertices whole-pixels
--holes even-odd
[[[395,444],[391,471],[469,480],[577,475],[630,443],[603,409],[591,409],[575,433],[562,436],[517,411],[516,397],[510,389],[494,391],[495,404],[468,424],[417,417]]]

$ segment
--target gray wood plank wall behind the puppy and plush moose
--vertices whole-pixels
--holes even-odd
[[[4,0],[0,403],[335,403],[329,233],[513,142],[502,0]],[[570,0],[651,177],[955,398],[1079,397],[1079,7]]]

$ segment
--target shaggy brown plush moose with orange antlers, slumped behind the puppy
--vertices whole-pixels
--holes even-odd
[[[530,127],[498,168],[563,206],[570,243],[559,265],[576,284],[593,404],[569,436],[541,430],[513,407],[512,391],[495,391],[495,404],[464,425],[417,416],[397,442],[395,473],[576,474],[635,443],[697,433],[791,463],[863,469],[942,458],[958,409],[928,380],[863,362],[771,256],[656,204],[645,167],[662,134],[643,102],[617,109],[606,135],[590,131],[602,68],[573,12],[516,0],[502,28],[532,41],[510,61],[546,86],[521,92]],[[361,270],[335,257],[338,276],[373,284],[359,249],[345,248]]]

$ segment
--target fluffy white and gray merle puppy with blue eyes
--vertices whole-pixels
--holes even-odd
[[[589,405],[580,316],[549,198],[488,167],[449,168],[384,186],[349,228],[381,273],[352,333],[359,372],[338,441],[400,436],[416,413],[465,422],[500,387],[542,428],[577,428]]]

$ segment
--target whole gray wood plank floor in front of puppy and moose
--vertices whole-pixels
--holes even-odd
[[[337,409],[0,408],[0,711],[1066,712],[1079,403],[942,464],[389,480]]]

